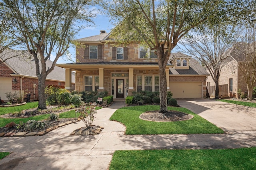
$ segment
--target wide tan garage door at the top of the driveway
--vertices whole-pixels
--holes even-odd
[[[202,98],[202,82],[170,82],[173,98]]]

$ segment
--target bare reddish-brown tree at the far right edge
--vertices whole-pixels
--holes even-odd
[[[242,61],[239,62],[239,69],[243,74],[248,90],[248,98],[252,99],[253,88],[256,86],[256,27],[246,29],[244,43],[240,46]]]

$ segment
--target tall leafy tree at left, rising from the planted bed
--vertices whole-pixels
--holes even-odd
[[[36,64],[38,109],[46,109],[44,87],[46,76],[63,56],[74,35],[82,28],[80,21],[91,21],[90,0],[2,0],[6,13],[17,23],[18,33]],[[52,65],[46,61],[54,56]]]

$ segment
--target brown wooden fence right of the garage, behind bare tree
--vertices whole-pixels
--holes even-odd
[[[207,93],[206,96],[210,98],[215,98],[215,86],[206,86]],[[228,97],[228,84],[219,85],[219,98]]]

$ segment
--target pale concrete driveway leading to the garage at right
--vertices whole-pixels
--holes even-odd
[[[224,131],[256,131],[256,108],[218,102],[212,99],[178,99],[190,109]]]

